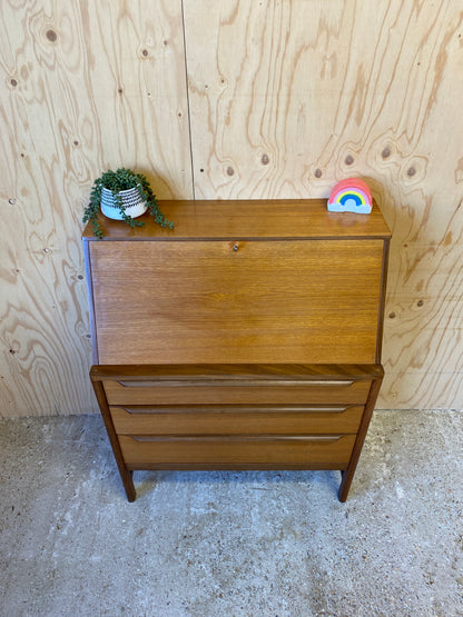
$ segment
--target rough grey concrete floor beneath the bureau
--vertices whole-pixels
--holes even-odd
[[[0,615],[461,616],[463,415],[374,415],[339,474],[137,472],[98,416],[0,421]]]

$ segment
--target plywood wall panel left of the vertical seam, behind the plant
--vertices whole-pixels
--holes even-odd
[[[191,198],[181,3],[6,0],[0,30],[0,416],[88,412],[92,180]]]

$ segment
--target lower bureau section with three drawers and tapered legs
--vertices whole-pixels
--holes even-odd
[[[380,365],[93,366],[127,498],[134,470],[339,470],[345,501]],[[203,402],[201,402],[203,401]]]

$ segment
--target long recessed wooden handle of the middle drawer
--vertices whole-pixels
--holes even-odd
[[[131,416],[144,416],[149,414],[345,414],[352,406],[345,407],[234,407],[229,409],[224,407],[125,407],[114,405],[119,409],[124,409]],[[354,406],[355,407],[355,406]]]

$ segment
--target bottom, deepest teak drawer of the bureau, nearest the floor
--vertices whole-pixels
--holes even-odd
[[[190,469],[269,468],[345,469],[355,435],[344,436],[198,436],[119,437],[129,469],[181,466]]]

